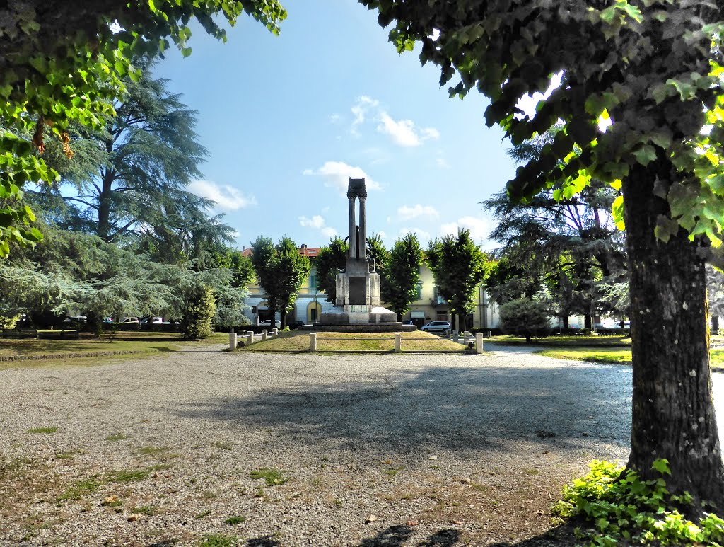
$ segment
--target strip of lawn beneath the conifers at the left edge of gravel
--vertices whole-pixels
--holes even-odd
[[[178,351],[189,344],[224,343],[227,333],[214,333],[203,341],[185,341],[178,333],[123,332],[107,335],[98,340],[89,333],[81,333],[78,340],[0,340],[0,369],[37,364],[67,364],[100,362],[112,358],[112,354],[134,352],[135,356],[159,355],[167,351]],[[94,354],[101,354],[96,355]],[[109,355],[110,354],[110,355]],[[20,359],[12,359],[20,357]]]

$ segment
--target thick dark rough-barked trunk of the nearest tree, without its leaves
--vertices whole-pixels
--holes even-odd
[[[634,167],[623,183],[631,275],[633,423],[628,467],[657,477],[668,459],[672,493],[724,507],[724,467],[712,402],[704,263],[681,230],[668,243],[654,237],[665,200],[654,196],[662,168]]]

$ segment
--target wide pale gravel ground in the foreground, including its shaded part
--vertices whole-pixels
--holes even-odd
[[[628,367],[221,349],[0,371],[0,545],[550,545],[628,455]]]

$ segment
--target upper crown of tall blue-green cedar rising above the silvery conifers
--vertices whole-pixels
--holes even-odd
[[[151,77],[151,62],[136,64],[143,75],[123,79],[127,94],[104,128],[71,126],[72,159],[47,143],[44,156],[60,182],[39,185],[29,198],[57,225],[104,241],[143,241],[163,262],[203,259],[203,248],[229,240],[231,228],[209,216],[211,201],[186,189],[201,178],[207,155],[196,142],[196,112],[167,91],[167,80]]]

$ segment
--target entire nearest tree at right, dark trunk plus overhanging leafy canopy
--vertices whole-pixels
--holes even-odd
[[[654,459],[668,459],[671,491],[723,506],[704,276],[724,230],[720,3],[360,1],[379,10],[383,27],[395,22],[398,51],[420,42],[440,84],[455,78],[451,96],[489,97],[487,125],[513,144],[560,125],[539,157],[518,167],[513,199],[557,182],[556,199],[591,180],[621,189],[613,214],[626,225],[631,276],[628,467],[652,478]],[[556,74],[561,84],[535,114],[522,112],[521,96],[544,93]]]

